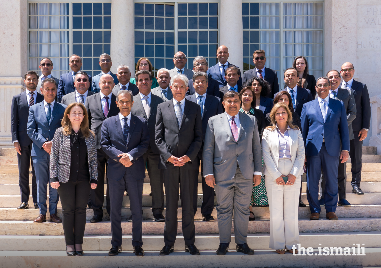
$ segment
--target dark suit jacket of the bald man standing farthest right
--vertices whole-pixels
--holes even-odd
[[[356,102],[356,118],[352,121],[353,131],[370,127],[370,100],[367,85],[353,80],[352,93]]]

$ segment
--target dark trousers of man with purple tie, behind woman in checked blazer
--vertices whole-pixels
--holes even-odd
[[[93,205],[94,215],[103,217],[103,202],[104,202],[104,168],[107,172],[107,161],[109,157],[101,149],[97,149],[97,162],[98,162],[98,185],[95,189],[91,189],[91,205]],[[110,194],[109,194],[109,180],[106,178],[106,211],[110,215]],[[86,203],[87,204],[87,203]]]

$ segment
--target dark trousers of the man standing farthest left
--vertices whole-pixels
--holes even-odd
[[[21,146],[21,155],[17,154],[17,163],[19,165],[19,186],[21,203],[29,202],[30,189],[29,189],[29,166],[32,160],[30,157],[30,151],[32,150],[32,143],[28,146]],[[32,198],[33,203],[37,203],[37,183],[36,173],[32,164]]]

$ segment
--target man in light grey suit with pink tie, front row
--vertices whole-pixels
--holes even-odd
[[[229,250],[233,211],[236,249],[254,254],[246,241],[253,184],[261,183],[262,150],[256,119],[239,112],[240,102],[233,90],[224,95],[225,112],[209,119],[204,140],[203,174],[217,197],[217,255]]]

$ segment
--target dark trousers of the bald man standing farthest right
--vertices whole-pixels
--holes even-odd
[[[361,182],[361,168],[362,168],[362,141],[360,141],[359,131],[354,131],[354,140],[349,141],[349,156],[351,157],[352,164],[352,187],[360,187]]]

